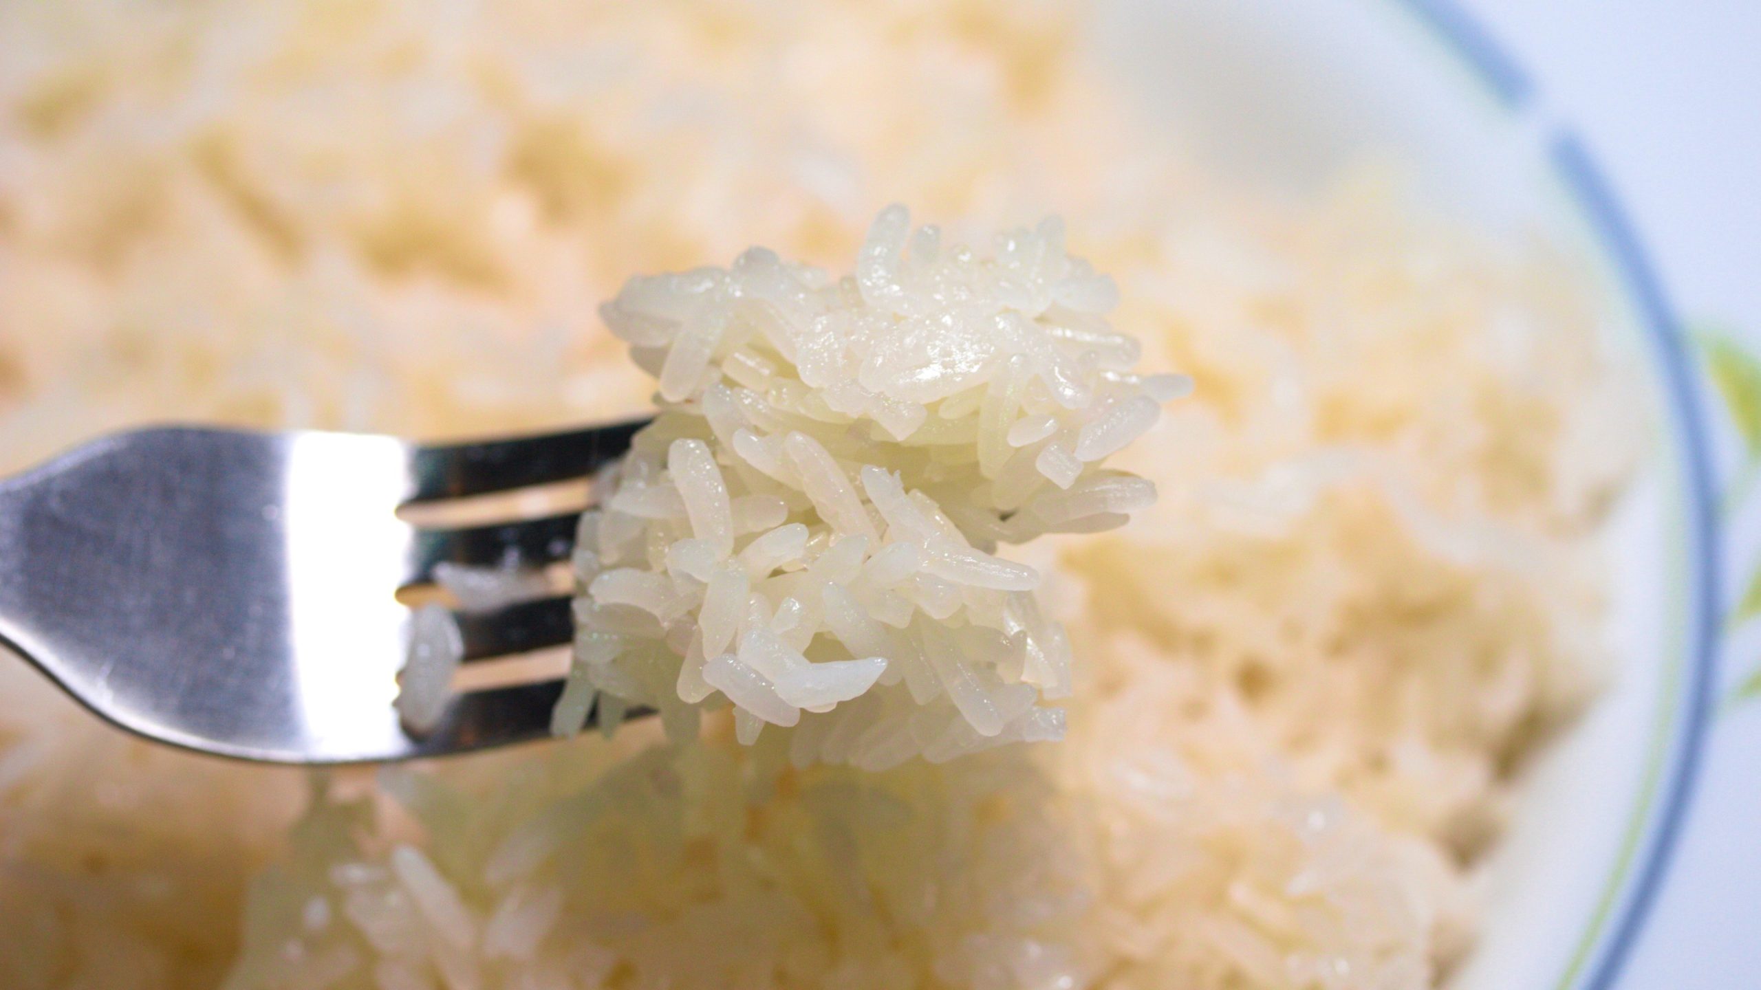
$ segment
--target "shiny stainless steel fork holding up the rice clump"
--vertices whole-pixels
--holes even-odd
[[[109,722],[217,756],[366,763],[544,736],[560,680],[460,694],[405,731],[400,592],[442,562],[567,560],[579,509],[407,516],[588,477],[643,425],[456,446],[194,426],[90,442],[0,483],[0,641]],[[574,632],[567,595],[454,615],[467,662]]]

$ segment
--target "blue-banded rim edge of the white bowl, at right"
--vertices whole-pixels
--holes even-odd
[[[1469,76],[1511,118],[1537,116],[1541,90],[1534,76],[1458,0],[1391,0],[1419,21],[1432,39],[1463,62]],[[1675,731],[1657,742],[1668,754],[1655,780],[1641,791],[1629,821],[1629,844],[1604,881],[1599,905],[1557,979],[1560,990],[1608,990],[1618,979],[1662,891],[1669,865],[1694,805],[1706,738],[1713,720],[1722,648],[1722,532],[1717,472],[1706,416],[1706,389],[1689,336],[1650,252],[1613,185],[1569,123],[1548,116],[1541,137],[1551,178],[1574,211],[1625,301],[1652,352],[1662,386],[1669,430],[1682,458],[1682,500],[1687,514],[1689,583],[1685,590],[1685,676],[1668,717]]]

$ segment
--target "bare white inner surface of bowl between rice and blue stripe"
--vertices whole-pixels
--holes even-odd
[[[1610,534],[1613,669],[1592,710],[1523,770],[1511,830],[1486,863],[1485,930],[1453,981],[1576,985],[1627,895],[1632,837],[1655,812],[1657,761],[1675,743],[1694,553],[1655,361],[1557,176],[1539,115],[1500,97],[1400,0],[1115,0],[1095,44],[1212,169],[1301,194],[1365,157],[1391,159],[1428,206],[1493,233],[1539,231],[1597,271],[1611,345],[1647,368],[1657,437]]]

